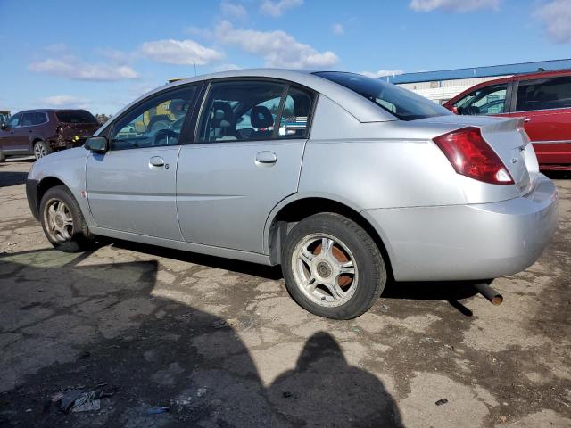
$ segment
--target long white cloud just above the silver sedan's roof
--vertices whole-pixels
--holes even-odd
[[[244,52],[261,56],[268,67],[328,68],[339,62],[335,53],[319,53],[285,31],[235,29],[230,22],[222,21],[216,29],[216,37],[220,43],[238,45]]]

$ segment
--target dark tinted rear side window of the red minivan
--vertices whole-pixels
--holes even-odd
[[[517,87],[517,111],[571,107],[571,76],[521,80]]]

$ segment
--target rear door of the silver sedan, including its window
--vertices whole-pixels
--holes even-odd
[[[265,221],[295,193],[315,95],[274,80],[219,80],[203,102],[194,144],[178,158],[185,241],[263,251]],[[286,126],[298,123],[298,127]]]

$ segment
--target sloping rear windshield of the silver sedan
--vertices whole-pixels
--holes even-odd
[[[378,78],[368,78],[360,74],[341,71],[320,71],[314,74],[351,89],[401,120],[424,119],[452,114],[451,111],[424,96]]]

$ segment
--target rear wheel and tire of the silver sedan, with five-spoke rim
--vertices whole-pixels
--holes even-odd
[[[282,271],[287,291],[302,308],[333,319],[359,317],[386,284],[377,244],[357,223],[331,212],[294,226],[285,237]]]

